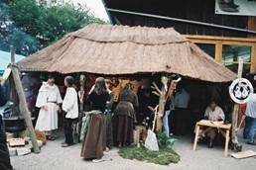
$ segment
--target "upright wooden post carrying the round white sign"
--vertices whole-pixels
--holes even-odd
[[[243,60],[239,59],[237,78],[242,77],[242,72],[243,72]],[[232,113],[232,142],[237,144],[238,144],[238,139],[236,136],[236,128],[237,128],[238,112],[239,112],[239,104],[234,104],[234,109]]]

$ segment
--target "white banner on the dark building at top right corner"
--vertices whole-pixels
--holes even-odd
[[[215,14],[256,16],[256,0],[215,0]]]

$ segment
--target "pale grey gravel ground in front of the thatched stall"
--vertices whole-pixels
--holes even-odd
[[[238,133],[238,140],[243,145],[243,150],[254,150],[256,146],[246,144],[242,138],[242,129]],[[106,160],[100,163],[92,163],[83,160],[80,155],[81,142],[63,148],[61,142],[64,141],[63,129],[54,131],[56,140],[48,141],[41,149],[41,152],[30,153],[24,156],[11,156],[11,162],[16,170],[80,170],[80,169],[109,169],[109,170],[254,170],[256,159],[254,157],[245,159],[235,159],[231,156],[224,157],[223,146],[215,146],[212,149],[204,144],[198,144],[197,150],[192,151],[192,135],[175,136],[178,141],[174,150],[181,155],[181,160],[177,164],[168,166],[154,163],[141,162],[137,160],[123,159],[118,155],[118,148],[113,148],[105,152]],[[229,149],[228,153],[232,151]]]

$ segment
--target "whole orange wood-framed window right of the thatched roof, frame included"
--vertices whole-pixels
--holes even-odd
[[[216,61],[237,73],[243,60],[243,74],[256,72],[256,39],[185,35]]]

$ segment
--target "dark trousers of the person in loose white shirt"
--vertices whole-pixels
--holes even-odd
[[[73,138],[72,138],[72,119],[67,119],[65,118],[64,114],[64,137],[65,137],[65,142],[67,144],[73,143]]]

